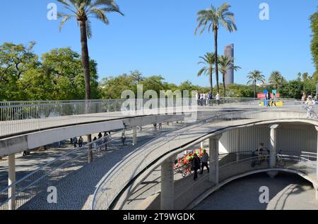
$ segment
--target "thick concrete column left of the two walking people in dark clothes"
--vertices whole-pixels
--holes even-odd
[[[174,175],[173,165],[175,157],[168,158],[161,164],[161,194],[160,194],[160,209],[174,209]]]

